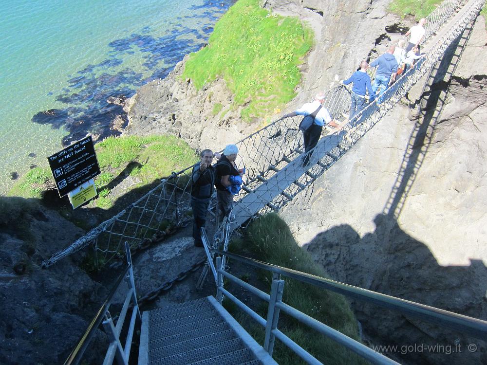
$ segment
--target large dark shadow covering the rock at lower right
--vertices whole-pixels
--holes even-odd
[[[375,231],[362,238],[349,225],[336,226],[303,248],[338,281],[485,320],[487,267],[481,260],[441,266],[430,249],[392,217],[379,214],[375,225]],[[487,364],[484,341],[363,301],[352,304],[365,342],[371,347],[396,346],[381,352],[400,363]],[[477,350],[469,351],[468,345]]]

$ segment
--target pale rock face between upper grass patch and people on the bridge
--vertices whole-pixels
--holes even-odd
[[[301,67],[304,81],[294,105],[317,90],[328,90],[356,71],[360,61],[382,53],[391,40],[386,26],[399,21],[386,12],[390,0],[266,0],[264,6],[285,16],[298,16],[315,31],[315,47]],[[378,47],[377,47],[378,46]],[[379,50],[379,51],[378,51]]]

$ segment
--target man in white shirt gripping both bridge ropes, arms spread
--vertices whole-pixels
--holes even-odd
[[[287,117],[295,117],[296,115],[306,116],[306,115],[313,114],[316,110],[318,110],[321,104],[323,104],[324,100],[325,100],[325,93],[319,92],[315,96],[314,101],[312,101],[311,103],[304,104],[301,108],[291,113],[284,114],[281,119]],[[330,117],[328,110],[321,107],[321,109],[318,110],[318,113],[316,114],[313,125],[310,128],[308,128],[308,130],[303,132],[304,152],[308,152],[310,149],[315,148],[316,144],[319,141],[319,137],[321,136],[321,130],[323,129],[323,125],[325,123],[329,124],[331,127],[339,128],[338,124]],[[306,166],[308,164],[310,157],[311,157],[311,153],[307,153],[305,155],[303,166]]]

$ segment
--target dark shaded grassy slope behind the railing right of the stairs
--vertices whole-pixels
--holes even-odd
[[[313,258],[300,248],[289,227],[277,214],[267,214],[253,222],[247,229],[246,236],[236,244],[232,241],[230,249],[237,254],[257,257],[271,264],[328,277]],[[271,275],[262,272],[258,276],[262,288],[268,287],[268,283],[272,280]],[[285,281],[283,302],[359,341],[355,315],[342,295],[287,277],[283,279]],[[226,308],[232,310],[233,306],[228,305]],[[266,311],[266,304],[259,306],[257,311],[262,315],[264,310]],[[240,319],[244,319],[244,316]],[[253,321],[244,321],[244,327],[258,342],[263,343],[264,333],[259,325]],[[290,317],[282,316],[278,327],[324,364],[367,364],[356,354]],[[296,354],[277,340],[274,359],[279,364],[304,364]]]

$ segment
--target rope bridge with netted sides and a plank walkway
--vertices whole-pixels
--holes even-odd
[[[335,164],[421,76],[431,70],[450,44],[475,20],[483,6],[484,0],[444,1],[427,18],[425,41],[431,39],[428,52],[385,91],[378,103],[370,103],[351,120],[345,114],[350,108],[350,91],[341,85],[327,91],[323,105],[331,117],[344,126],[332,132],[323,129],[324,135],[312,150],[311,163],[307,167],[302,167],[300,117],[275,121],[238,142],[236,163],[245,167],[247,174],[243,189],[234,197],[235,219],[232,219],[230,230],[245,225],[258,214],[279,210]],[[112,219],[43,261],[42,267],[49,267],[89,245],[94,248],[97,262],[107,263],[124,255],[125,241],[130,242],[131,249],[141,248],[174,228],[185,226],[191,220],[192,167],[173,172]]]

